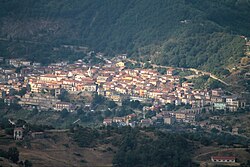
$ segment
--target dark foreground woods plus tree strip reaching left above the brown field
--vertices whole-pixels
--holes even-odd
[[[74,128],[76,129],[76,128]],[[182,135],[163,133],[154,129],[106,127],[101,131],[78,127],[72,130],[80,147],[95,147],[98,143],[112,144],[113,165],[122,166],[195,166],[191,161],[192,142]]]

